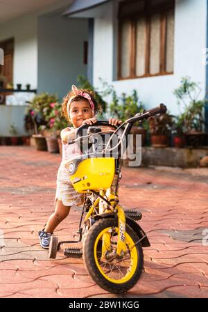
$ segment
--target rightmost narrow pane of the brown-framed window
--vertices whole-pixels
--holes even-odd
[[[166,71],[173,72],[174,65],[174,12],[167,14],[166,29]]]

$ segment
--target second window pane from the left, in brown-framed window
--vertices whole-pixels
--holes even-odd
[[[137,21],[137,45],[136,45],[136,75],[145,74],[146,57],[146,21],[141,19]]]

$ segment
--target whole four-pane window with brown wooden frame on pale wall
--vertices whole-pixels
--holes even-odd
[[[175,0],[119,4],[118,78],[173,74]]]

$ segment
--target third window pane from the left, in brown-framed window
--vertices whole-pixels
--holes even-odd
[[[150,74],[159,73],[160,15],[153,15],[150,22]]]

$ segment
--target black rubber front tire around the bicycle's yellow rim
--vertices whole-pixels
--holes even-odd
[[[89,275],[92,277],[92,279],[100,286],[101,288],[113,292],[113,293],[122,293],[127,292],[130,290],[137,281],[139,281],[139,278],[141,276],[143,267],[144,267],[144,256],[143,256],[143,249],[141,247],[140,242],[137,244],[137,255],[138,255],[138,263],[137,268],[135,270],[135,274],[126,281],[125,283],[112,283],[112,281],[108,281],[105,279],[105,276],[101,274],[101,272],[98,270],[98,267],[96,265],[96,261],[94,258],[94,244],[96,242],[96,238],[103,231],[105,228],[108,228],[110,226],[117,227],[117,223],[114,219],[101,219],[96,222],[87,233],[86,240],[84,242],[83,246],[83,258],[85,262],[85,267],[87,271],[89,272]],[[128,224],[125,225],[125,231],[130,235],[132,240],[134,242],[138,242],[139,238],[135,231],[128,226]]]

